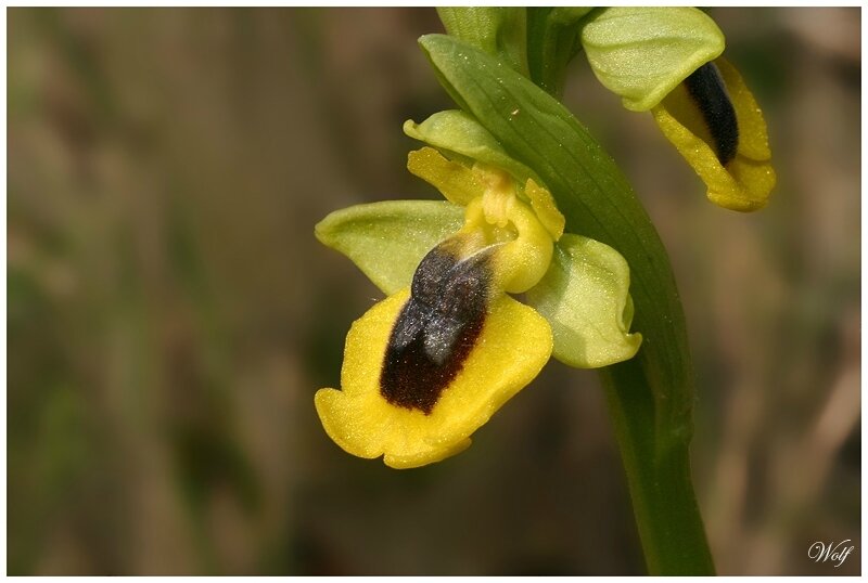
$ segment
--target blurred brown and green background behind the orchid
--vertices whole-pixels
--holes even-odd
[[[860,11],[713,9],[778,187],[739,215],[579,55],[567,106],[672,254],[724,574],[857,574]],[[638,574],[602,392],[552,361],[408,471],[312,405],[382,295],[328,212],[436,198],[401,122],[451,106],[433,9],[8,11],[11,574]],[[840,567],[816,541],[851,539]]]

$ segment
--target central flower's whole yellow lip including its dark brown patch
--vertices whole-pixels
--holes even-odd
[[[505,208],[490,212],[531,212],[518,200],[499,203]],[[327,433],[348,453],[383,455],[395,468],[454,455],[551,355],[548,322],[503,289],[523,278],[536,283],[516,275],[514,261],[538,259],[527,248],[545,229],[537,224],[528,232],[519,224],[514,239],[498,241],[502,233],[477,222],[482,205],[474,200],[465,228],[425,256],[409,289],[378,303],[350,328],[343,390],[321,389],[315,399]],[[551,245],[548,238],[549,260]]]

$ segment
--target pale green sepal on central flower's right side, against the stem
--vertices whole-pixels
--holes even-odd
[[[528,303],[551,324],[554,358],[578,368],[631,359],[642,336],[629,334],[629,268],[615,249],[579,235],[561,237],[549,271],[527,292]]]

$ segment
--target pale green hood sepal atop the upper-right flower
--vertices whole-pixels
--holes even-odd
[[[597,79],[646,112],[724,52],[724,34],[694,8],[607,8],[587,17],[582,44]]]

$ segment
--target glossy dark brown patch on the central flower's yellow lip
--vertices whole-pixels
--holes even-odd
[[[442,245],[422,259],[386,347],[386,401],[431,414],[482,334],[489,280],[485,251],[458,259]]]

